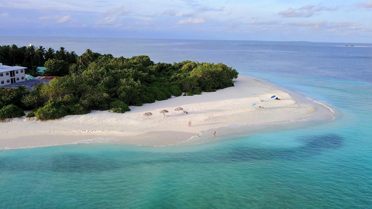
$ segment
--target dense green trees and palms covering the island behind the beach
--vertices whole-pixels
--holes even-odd
[[[54,51],[33,45],[0,46],[0,62],[28,67],[27,73],[34,76],[39,75],[37,66],[45,66],[42,75],[59,76],[32,91],[1,88],[0,119],[24,116],[24,110],[31,110],[26,117],[40,120],[92,110],[124,113],[131,105],[231,87],[232,79],[238,77],[235,69],[222,63],[154,63],[145,55],[113,57],[90,49],[78,56],[63,47]]]

